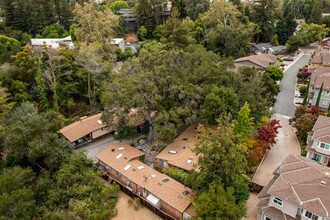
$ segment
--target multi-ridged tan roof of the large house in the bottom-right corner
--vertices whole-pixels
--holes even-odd
[[[276,170],[274,179],[258,195],[262,199],[259,208],[270,207],[264,199],[273,195],[318,216],[329,217],[329,168],[301,156],[289,155]]]

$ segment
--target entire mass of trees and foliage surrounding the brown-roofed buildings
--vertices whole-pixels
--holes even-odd
[[[103,184],[92,163],[72,152],[57,131],[64,122],[103,111],[109,126],[120,120],[115,138],[131,141],[139,135],[131,124],[136,118],[127,117],[132,109],[146,121],[147,163],[153,162],[151,149],[171,142],[186,125],[219,126],[201,130],[200,172],[172,167],[168,172],[199,193],[193,203],[197,218],[240,219],[248,196],[246,174],[276,143],[280,125],[268,116],[283,71],[236,69],[232,59],[249,55],[251,42],[286,44],[294,52],[323,39],[330,26],[321,16],[329,5],[321,0],[173,0],[169,14],[162,0],[0,4],[4,219],[114,215],[118,187]],[[123,8],[133,10],[136,26],[116,14]],[[306,21],[298,30],[296,18]],[[112,45],[113,38],[132,31],[144,41],[134,52],[129,45],[125,50]],[[28,45],[31,37],[69,35],[74,49]],[[304,140],[318,111],[296,114],[297,134]]]

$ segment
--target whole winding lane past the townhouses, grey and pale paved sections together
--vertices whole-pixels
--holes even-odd
[[[302,50],[304,54],[300,58],[295,59],[284,72],[284,77],[280,83],[281,92],[278,94],[277,101],[272,110],[272,119],[280,120],[282,128],[278,130],[276,144],[268,151],[268,154],[261,161],[252,178],[252,182],[261,186],[265,186],[273,178],[273,171],[285,157],[289,154],[300,155],[300,145],[292,126],[289,125],[288,118],[294,116],[296,110],[294,98],[298,70],[308,64],[311,52],[314,50],[315,47],[304,48]],[[246,204],[247,220],[257,219],[256,204],[258,201],[256,194],[250,193]]]

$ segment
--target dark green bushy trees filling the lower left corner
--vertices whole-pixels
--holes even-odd
[[[82,152],[59,139],[60,114],[28,102],[0,130],[1,219],[107,219],[119,187],[104,184]]]

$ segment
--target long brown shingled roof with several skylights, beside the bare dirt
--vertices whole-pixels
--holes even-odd
[[[96,158],[178,211],[184,212],[195,198],[194,192],[171,177],[134,159],[140,155],[143,153],[128,144],[117,143],[101,151]]]

